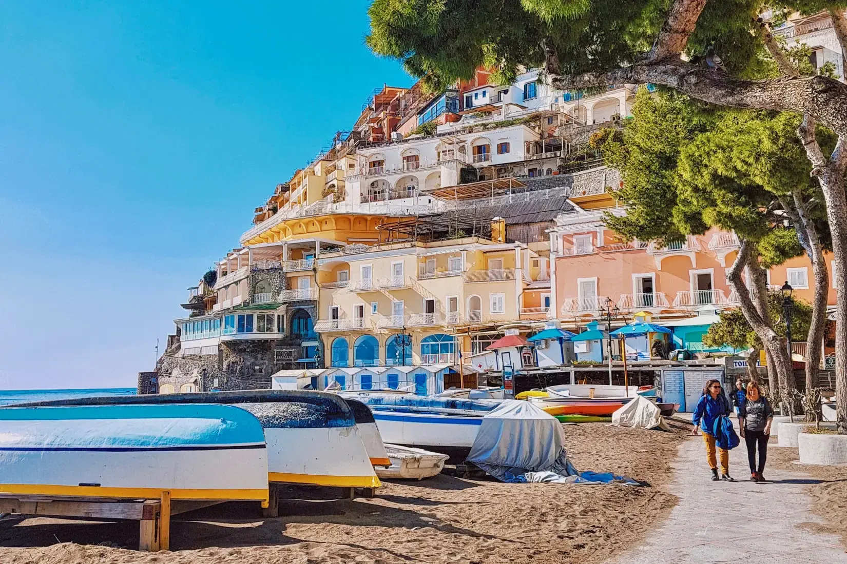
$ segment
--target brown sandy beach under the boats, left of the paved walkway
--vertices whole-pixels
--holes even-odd
[[[662,490],[680,430],[566,425],[580,469],[627,474],[645,487],[507,485],[440,475],[385,482],[374,499],[281,503],[281,517],[226,504],[174,517],[172,552],[141,553],[136,523],[47,518],[0,522],[0,562],[223,564],[601,562],[638,542],[673,507]],[[311,492],[314,496],[314,492]]]

